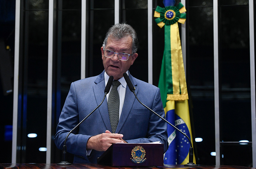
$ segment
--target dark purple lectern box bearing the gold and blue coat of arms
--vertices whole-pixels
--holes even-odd
[[[112,144],[97,160],[109,166],[163,166],[163,144]]]

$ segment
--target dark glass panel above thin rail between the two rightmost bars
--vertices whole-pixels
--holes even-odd
[[[251,141],[249,10],[227,6],[220,11],[221,141]]]

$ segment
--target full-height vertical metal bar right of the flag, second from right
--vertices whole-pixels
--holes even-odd
[[[218,0],[213,0],[214,108],[216,165],[220,165],[219,71],[218,71]]]

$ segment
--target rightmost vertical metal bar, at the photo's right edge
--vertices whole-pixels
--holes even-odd
[[[256,168],[256,106],[255,106],[255,47],[254,47],[254,12],[253,0],[249,0],[249,37],[250,37],[250,72],[251,72],[251,114],[252,114],[252,167]]]

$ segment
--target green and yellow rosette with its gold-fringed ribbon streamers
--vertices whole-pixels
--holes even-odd
[[[186,12],[186,9],[181,3],[176,7],[157,6],[154,12],[157,25],[160,28],[165,26],[165,47],[158,87],[161,97],[167,95],[167,100],[173,101],[188,99],[178,27],[178,23],[185,23],[186,14],[183,12]]]

